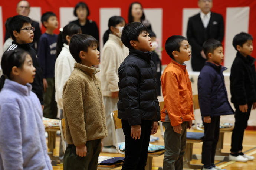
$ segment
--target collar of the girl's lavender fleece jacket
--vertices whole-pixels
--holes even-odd
[[[22,93],[25,96],[29,96],[32,90],[32,85],[29,83],[27,83],[26,85],[22,85],[15,81],[5,79],[4,88],[10,89],[14,92]]]

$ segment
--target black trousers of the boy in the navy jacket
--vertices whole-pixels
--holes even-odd
[[[220,116],[211,118],[211,123],[204,123],[204,142],[202,146],[202,164],[214,164],[216,146],[220,135]]]

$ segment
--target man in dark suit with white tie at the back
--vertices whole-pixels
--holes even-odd
[[[203,52],[204,41],[213,38],[222,42],[224,21],[221,14],[211,12],[212,0],[198,0],[201,12],[188,20],[187,39],[192,47],[191,64],[193,71],[201,71],[206,61]]]

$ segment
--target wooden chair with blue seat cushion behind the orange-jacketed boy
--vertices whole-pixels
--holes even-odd
[[[160,110],[162,110],[164,108],[164,102],[159,102],[159,105],[160,105]],[[164,139],[163,123],[161,121],[159,122],[159,126],[161,130],[161,135]],[[186,150],[184,154],[183,170],[201,169],[202,165],[190,164],[190,161],[192,160],[193,144],[203,142],[203,136],[204,136],[204,133],[187,132],[187,144],[186,144]]]

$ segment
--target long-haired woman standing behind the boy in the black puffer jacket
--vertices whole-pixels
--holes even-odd
[[[144,24],[148,30],[152,30],[150,22],[145,19],[142,5],[139,2],[131,3],[129,8],[128,21],[129,23],[140,22]]]

